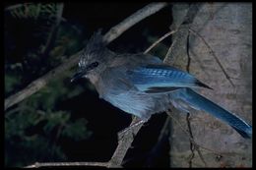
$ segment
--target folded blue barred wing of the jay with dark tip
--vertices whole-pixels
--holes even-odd
[[[180,87],[209,87],[194,76],[166,65],[140,66],[127,71],[128,78],[139,90],[148,93],[164,92]]]

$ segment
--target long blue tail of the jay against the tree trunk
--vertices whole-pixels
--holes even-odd
[[[252,127],[249,124],[190,88],[173,91],[170,93],[170,97],[174,101],[182,100],[190,107],[210,113],[231,126],[243,138],[251,138],[252,136]]]

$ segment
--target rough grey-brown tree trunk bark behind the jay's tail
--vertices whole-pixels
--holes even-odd
[[[186,4],[173,5],[175,28],[184,19]],[[214,100],[227,110],[252,120],[252,4],[251,3],[205,3],[200,8],[190,28],[200,33],[209,43],[231,78],[234,86],[226,80],[207,45],[190,33],[190,73],[210,85],[214,90],[200,89],[199,92]],[[187,32],[185,32],[187,33]],[[174,37],[175,38],[175,35]],[[167,63],[183,70],[186,68],[186,41],[173,48]],[[173,59],[175,62],[173,62]],[[180,124],[187,128],[186,115],[173,112]],[[196,142],[222,153],[202,151],[208,167],[251,167],[252,141],[244,140],[229,126],[206,114],[194,111],[191,128]],[[177,123],[172,122],[170,148],[171,167],[188,167],[191,154],[190,142]],[[204,167],[197,152],[192,167]]]

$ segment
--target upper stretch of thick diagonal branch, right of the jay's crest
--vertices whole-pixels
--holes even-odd
[[[127,19],[125,19],[120,24],[116,25],[113,28],[110,28],[108,32],[104,35],[104,40],[106,42],[110,42],[114,40],[116,37],[118,37],[120,34],[122,34],[125,30],[128,28],[131,28],[132,26],[136,25],[140,21],[144,20],[145,18],[157,13],[162,9],[163,7],[167,6],[167,3],[165,2],[158,2],[158,3],[151,3],[141,10],[137,11]]]

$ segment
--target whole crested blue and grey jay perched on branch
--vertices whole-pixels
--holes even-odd
[[[96,86],[99,98],[147,121],[166,111],[169,104],[189,112],[204,110],[227,123],[243,138],[251,138],[252,127],[238,116],[195,92],[207,87],[194,76],[162,63],[148,54],[116,54],[106,48],[100,32],[89,40],[72,82],[87,78]]]

